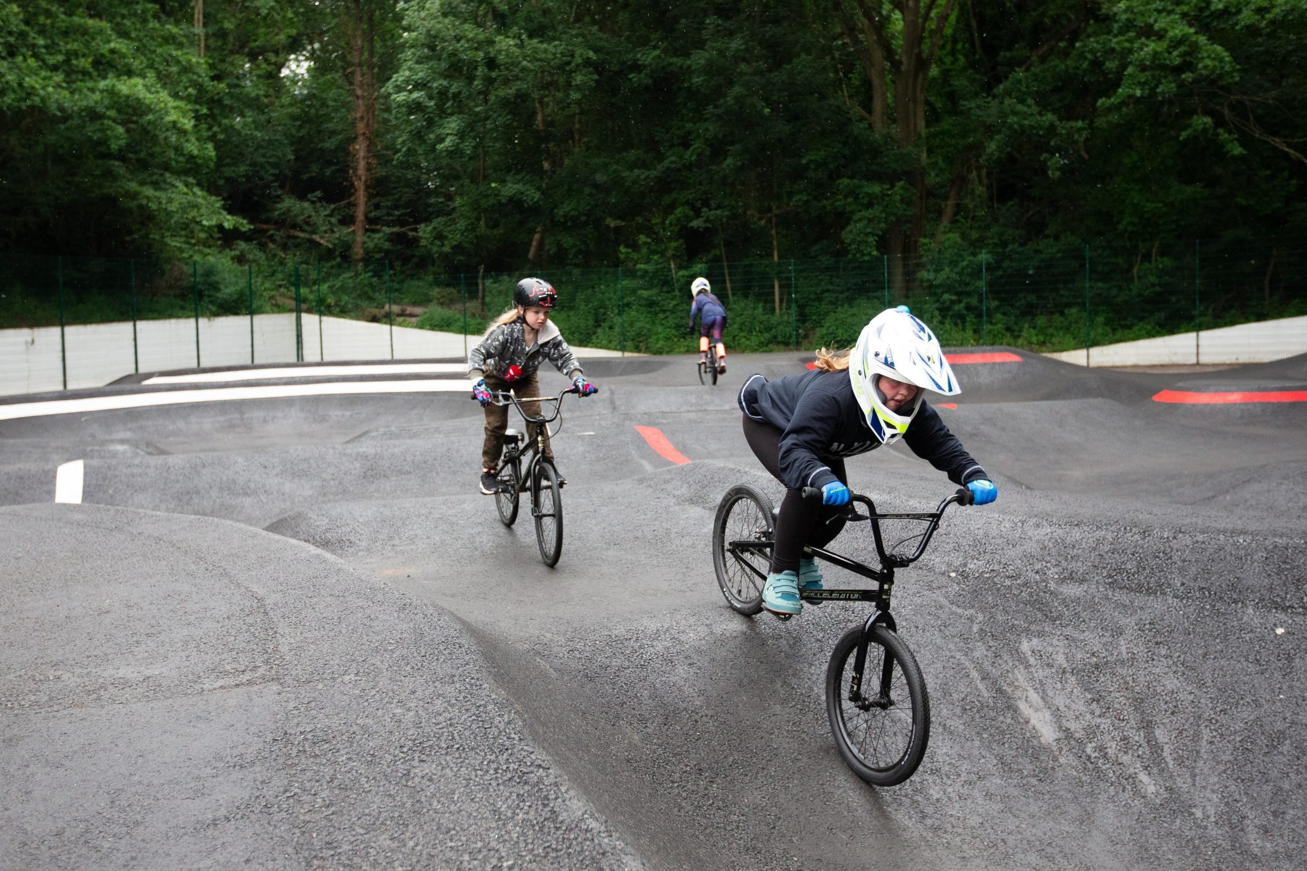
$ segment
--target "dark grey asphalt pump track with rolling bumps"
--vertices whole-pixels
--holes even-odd
[[[1300,867],[1307,404],[1154,397],[1291,394],[1307,359],[985,351],[1018,359],[959,366],[940,413],[1000,499],[899,575],[933,727],[886,790],[822,704],[864,609],[746,619],[714,581],[721,494],[780,491],[736,389],[801,355],[715,388],[587,364],[554,569],[477,494],[461,392],[0,419],[0,866]],[[73,396],[171,389],[142,381]],[[850,475],[894,509],[950,491],[898,448]]]

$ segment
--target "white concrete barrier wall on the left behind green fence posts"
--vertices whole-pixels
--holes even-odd
[[[387,324],[302,315],[303,358],[314,360],[388,360],[391,329]],[[250,317],[201,317],[200,366],[248,366]],[[142,320],[136,324],[136,354],[132,356],[132,324],[77,324],[64,329],[69,389],[102,387],[132,372],[161,372],[195,368],[196,323],[191,317]],[[467,346],[478,336],[468,336]],[[413,326],[396,326],[395,359],[463,356],[461,333],[438,333]],[[580,356],[618,356],[618,351],[597,347],[572,349]],[[254,316],[254,362],[293,363],[295,360],[295,316]],[[0,330],[0,396],[41,393],[64,387],[60,362],[59,328]]]

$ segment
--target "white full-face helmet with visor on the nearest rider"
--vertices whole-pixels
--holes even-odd
[[[878,384],[881,375],[921,389],[898,410],[890,410]],[[886,308],[863,328],[848,358],[848,380],[867,415],[867,424],[884,444],[894,444],[903,437],[907,424],[921,407],[924,390],[942,396],[962,392],[944,358],[940,340],[908,312],[907,306]]]

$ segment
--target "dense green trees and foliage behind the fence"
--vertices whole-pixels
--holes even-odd
[[[1302,0],[3,3],[0,245],[677,277],[887,253],[895,295],[950,251],[1285,257],[1303,56]]]

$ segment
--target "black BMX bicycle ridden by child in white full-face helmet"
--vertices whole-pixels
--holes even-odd
[[[821,499],[821,491],[805,487],[805,499]],[[925,552],[940,528],[944,511],[957,503],[970,505],[975,495],[958,490],[932,513],[876,512],[876,505],[855,495],[838,517],[847,522],[869,521],[881,568],[840,556],[825,547],[805,547],[804,556],[816,556],[876,584],[872,589],[825,589],[804,592],[804,602],[870,602],[874,611],[861,626],[846,632],[826,666],[826,714],[839,755],[848,767],[873,786],[902,784],[921,764],[931,736],[931,700],[925,679],[907,642],[898,636],[890,615],[894,569],[911,565]],[[857,512],[864,505],[867,513]],[[889,552],[881,535],[882,521],[915,521],[923,531],[899,541]],[[712,567],[727,603],[745,615],[762,610],[762,588],[771,564],[776,511],[766,494],[748,484],[727,491],[712,522]],[[899,548],[916,542],[908,555]],[[776,615],[788,620],[789,615]],[[870,666],[870,671],[868,671]],[[870,675],[872,686],[863,686]]]

